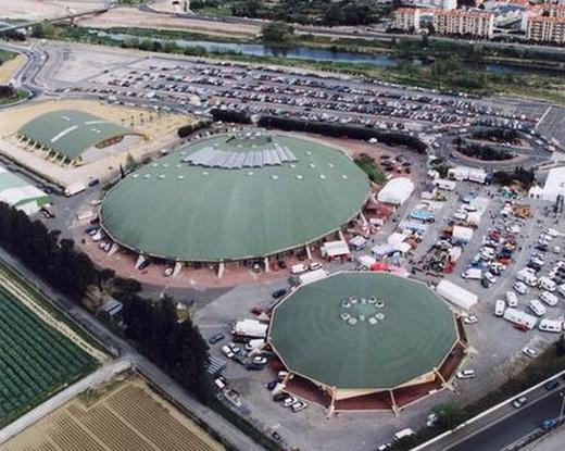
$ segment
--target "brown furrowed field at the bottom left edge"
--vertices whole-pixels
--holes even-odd
[[[1,451],[221,451],[224,447],[138,378],[86,392]]]

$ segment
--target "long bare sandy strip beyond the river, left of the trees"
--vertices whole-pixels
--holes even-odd
[[[78,22],[78,25],[97,28],[138,27],[192,30],[231,37],[234,34],[255,36],[261,33],[261,27],[256,25],[224,24],[222,22],[176,17],[167,14],[147,13],[131,8],[115,8],[96,17],[83,18]],[[228,30],[223,33],[226,28]]]

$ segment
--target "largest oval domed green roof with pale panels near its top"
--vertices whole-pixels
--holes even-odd
[[[128,175],[100,210],[117,243],[177,262],[228,262],[335,233],[371,193],[336,148],[252,130],[188,143]]]

